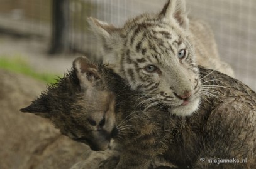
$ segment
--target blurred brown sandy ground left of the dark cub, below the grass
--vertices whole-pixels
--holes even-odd
[[[89,147],[61,135],[46,119],[21,113],[45,84],[0,69],[0,168],[70,168]]]

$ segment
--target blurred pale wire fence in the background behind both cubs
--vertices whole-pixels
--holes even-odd
[[[0,33],[52,41],[53,1],[0,0]],[[96,44],[87,17],[121,26],[126,19],[144,12],[157,12],[165,0],[62,0],[69,3],[69,49],[94,53]],[[220,56],[235,69],[235,76],[256,90],[256,1],[187,0],[189,15],[213,28]]]

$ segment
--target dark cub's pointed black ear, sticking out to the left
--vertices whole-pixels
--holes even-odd
[[[35,115],[41,116],[43,118],[50,118],[50,109],[48,108],[48,99],[45,94],[41,95],[39,98],[34,100],[31,105],[26,108],[21,108],[19,111],[25,113],[34,113]]]

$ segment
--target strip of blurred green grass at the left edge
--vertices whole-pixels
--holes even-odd
[[[49,73],[38,73],[28,62],[21,57],[6,58],[0,57],[0,68],[7,69],[9,71],[14,71],[16,73],[25,74],[35,79],[45,81],[46,83],[55,83],[57,76]]]

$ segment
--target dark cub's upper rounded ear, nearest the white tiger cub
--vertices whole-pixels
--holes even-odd
[[[81,88],[86,89],[89,86],[94,86],[101,79],[97,66],[84,56],[76,58],[73,62],[73,67]]]

